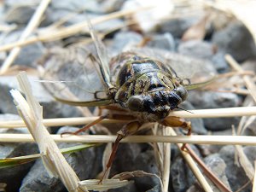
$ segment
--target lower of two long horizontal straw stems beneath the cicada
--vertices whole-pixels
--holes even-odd
[[[90,135],[67,136],[51,135],[57,143],[113,143],[116,136]],[[0,141],[5,143],[34,142],[30,134],[0,134]],[[194,143],[214,145],[256,146],[256,137],[250,136],[129,136],[121,143]]]

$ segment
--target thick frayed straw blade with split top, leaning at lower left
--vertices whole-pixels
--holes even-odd
[[[73,172],[71,166],[67,164],[61,151],[44,127],[42,118],[43,108],[36,101],[35,97],[32,96],[26,73],[20,73],[17,78],[20,89],[26,95],[26,100],[18,90],[11,90],[11,94],[15,99],[16,108],[20,116],[25,121],[32,137],[38,143],[44,166],[49,175],[60,177],[68,191],[87,191],[85,187],[79,186],[79,177]]]

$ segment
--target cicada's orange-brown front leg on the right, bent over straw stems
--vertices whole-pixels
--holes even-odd
[[[191,123],[189,121],[186,121],[183,118],[175,117],[175,116],[168,116],[165,119],[163,119],[162,121],[160,121],[160,124],[165,125],[165,126],[172,126],[172,127],[182,127],[183,129],[188,130],[186,136],[191,135],[191,131],[192,131]],[[184,150],[186,148],[186,144],[187,143],[183,143],[183,146],[181,148],[182,150]]]

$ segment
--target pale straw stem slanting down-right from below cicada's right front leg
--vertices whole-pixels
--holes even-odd
[[[171,129],[170,132],[172,136],[177,137],[177,134],[175,131],[173,131],[173,129]],[[192,159],[190,154],[181,150],[181,148],[183,147],[183,144],[177,143],[177,147],[180,150],[181,154],[183,155],[183,158],[186,160],[187,164],[189,165],[191,171],[194,173],[198,182],[201,183],[201,187],[206,192],[213,192],[209,183],[207,183],[207,179],[203,176],[200,169],[196,166],[195,161]]]

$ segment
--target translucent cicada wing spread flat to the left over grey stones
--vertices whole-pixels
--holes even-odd
[[[91,52],[90,47],[73,46],[45,56],[43,83],[57,100],[79,106],[111,102]]]

